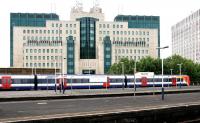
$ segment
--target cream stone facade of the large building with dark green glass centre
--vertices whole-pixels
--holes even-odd
[[[159,24],[158,16],[141,17],[158,19]],[[121,58],[158,57],[158,25],[158,28],[130,27],[129,21],[116,18],[113,22],[105,21],[98,6],[89,12],[78,6],[72,8],[69,21],[47,20],[44,27],[14,27],[14,67],[104,74]]]

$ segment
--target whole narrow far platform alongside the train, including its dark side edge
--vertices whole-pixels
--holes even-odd
[[[200,92],[200,86],[165,87],[166,94]],[[105,89],[68,89],[57,90],[30,90],[30,91],[0,91],[0,102],[5,101],[28,101],[28,100],[51,100],[51,99],[74,99],[95,97],[118,97],[118,96],[141,96],[157,95],[161,93],[161,87],[145,88],[105,88]]]

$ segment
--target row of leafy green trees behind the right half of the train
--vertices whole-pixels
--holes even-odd
[[[200,64],[194,63],[193,61],[179,55],[173,55],[164,59],[164,74],[170,75],[170,69],[173,69],[173,74],[179,75],[180,70],[177,64],[180,63],[182,63],[182,75],[189,75],[192,82],[200,81]],[[108,73],[122,74],[122,64],[124,64],[124,74],[134,74],[135,61],[129,60],[128,58],[123,58],[118,63],[114,63],[110,67]],[[137,62],[137,71],[161,74],[161,65],[161,59],[155,59],[148,56]]]

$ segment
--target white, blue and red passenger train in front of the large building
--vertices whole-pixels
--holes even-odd
[[[148,72],[137,75],[0,75],[0,90],[49,90],[63,85],[65,89],[122,87],[159,87],[162,75]],[[164,75],[164,86],[189,86],[188,75]]]

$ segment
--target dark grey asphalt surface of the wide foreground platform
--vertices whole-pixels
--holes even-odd
[[[0,102],[0,122],[42,119],[52,117],[75,117],[106,114],[121,111],[148,110],[163,107],[200,104],[200,93],[126,96],[107,98],[40,100]]]

